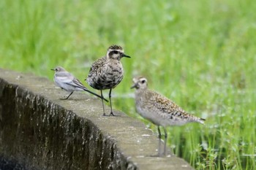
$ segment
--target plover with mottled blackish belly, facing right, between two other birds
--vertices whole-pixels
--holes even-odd
[[[114,115],[112,111],[111,103],[111,91],[113,88],[121,82],[123,79],[124,69],[121,64],[121,58],[127,57],[128,55],[124,54],[122,47],[118,45],[111,45],[108,47],[107,54],[99,58],[97,61],[92,63],[89,75],[86,78],[86,82],[97,90],[100,90],[101,96],[102,90],[110,89],[109,91],[109,100],[110,100],[110,115]],[[103,115],[105,116],[104,103],[102,100]]]

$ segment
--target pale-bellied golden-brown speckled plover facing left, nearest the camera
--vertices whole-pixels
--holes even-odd
[[[189,122],[197,122],[204,124],[205,119],[195,117],[185,112],[181,107],[178,107],[173,101],[160,95],[159,93],[148,90],[147,80],[145,77],[133,78],[135,91],[135,104],[137,112],[147,120],[157,125],[159,133],[158,155],[165,155],[167,131],[166,126],[184,125]],[[161,131],[159,126],[162,126],[165,131],[164,152],[161,153]]]

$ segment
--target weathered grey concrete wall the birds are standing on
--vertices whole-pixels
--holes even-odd
[[[101,101],[53,82],[0,69],[0,163],[15,169],[192,169],[155,158],[157,135],[139,120],[102,117]]]

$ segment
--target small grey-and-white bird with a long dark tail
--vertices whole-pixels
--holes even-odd
[[[72,93],[74,93],[74,91],[87,91],[93,94],[94,96],[102,98],[102,96],[99,96],[96,93],[91,92],[86,87],[84,87],[84,85],[77,78],[75,78],[71,73],[67,72],[63,67],[56,66],[55,69],[51,69],[51,70],[55,72],[54,78],[53,78],[55,84],[59,86],[61,89],[71,92],[69,96],[71,96]],[[69,96],[67,96],[67,98],[69,98]],[[61,98],[61,99],[66,100],[67,98]],[[105,101],[108,101],[105,98],[102,98],[102,99],[104,99]]]

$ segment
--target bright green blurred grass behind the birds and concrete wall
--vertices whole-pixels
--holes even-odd
[[[113,103],[132,117],[132,77],[206,125],[168,128],[169,147],[195,169],[256,169],[254,1],[0,1],[0,67],[80,80],[118,44],[124,80]],[[141,117],[139,119],[143,120]],[[156,127],[143,120],[156,131]]]

